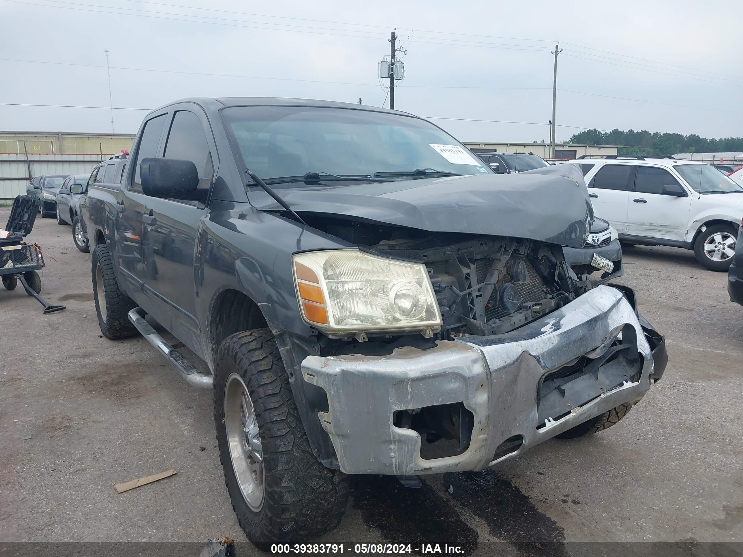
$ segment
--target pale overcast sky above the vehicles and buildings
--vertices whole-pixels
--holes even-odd
[[[0,103],[108,107],[107,49],[114,107],[193,96],[380,106],[377,63],[397,27],[395,108],[518,122],[433,120],[463,141],[549,139],[556,41],[558,141],[579,128],[739,137],[742,19],[733,0],[0,0]],[[114,130],[134,133],[144,114],[114,110]],[[0,104],[0,129],[106,132],[111,115]]]

